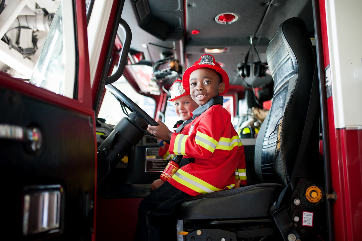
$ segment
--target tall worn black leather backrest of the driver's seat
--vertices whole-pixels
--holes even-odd
[[[256,140],[255,172],[264,182],[287,185],[303,135],[315,71],[310,34],[302,19],[290,18],[279,26],[269,42],[266,58],[274,94]],[[318,156],[318,128],[315,123],[299,167],[302,176],[310,174],[306,162]]]

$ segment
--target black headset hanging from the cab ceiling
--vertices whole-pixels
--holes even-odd
[[[251,49],[252,46],[253,46],[254,51],[256,53],[256,56],[258,58],[258,62],[248,62],[249,53],[252,50]],[[239,63],[237,65],[237,71],[239,73],[239,76],[241,78],[250,77],[250,72],[253,71],[254,77],[261,78],[261,77],[264,77],[266,75],[265,74],[266,69],[267,69],[266,68],[266,63],[262,63],[260,61],[258,52],[256,51],[256,48],[255,48],[255,46],[253,44],[253,39],[252,39],[252,37],[250,37],[250,46],[249,46],[249,50],[248,50],[247,54],[245,55],[244,62]]]

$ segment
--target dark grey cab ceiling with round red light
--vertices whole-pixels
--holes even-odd
[[[123,13],[132,30],[131,49],[144,52],[151,63],[168,52],[186,69],[203,54],[203,48],[227,47],[226,53],[214,56],[231,79],[248,51],[249,36],[254,37],[261,61],[266,62],[266,46],[288,18],[302,18],[314,35],[310,0],[128,0]],[[220,13],[235,13],[238,20],[218,24],[214,18]],[[200,32],[191,34],[192,30]]]

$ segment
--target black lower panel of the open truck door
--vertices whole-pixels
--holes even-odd
[[[7,78],[7,81],[18,80]],[[95,183],[93,116],[29,97],[5,87],[3,82],[0,82],[0,103],[4,230],[16,239],[30,240],[40,237],[80,240],[89,236],[93,228]],[[32,151],[29,141],[4,134],[12,127],[36,127],[41,138],[39,149]],[[56,201],[59,208],[55,211],[44,206],[44,202],[50,206],[52,199],[41,195],[51,194],[49,190],[54,186],[60,195]],[[26,208],[27,197],[34,200],[30,208]],[[49,223],[54,218],[47,212],[54,212],[59,224],[41,232],[39,227],[47,229],[45,220]]]

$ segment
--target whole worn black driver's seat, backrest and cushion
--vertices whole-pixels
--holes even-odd
[[[274,95],[255,146],[255,172],[261,183],[185,200],[179,207],[185,229],[209,229],[215,223],[273,220],[270,208],[289,182],[298,154],[315,70],[310,36],[300,18],[291,18],[279,26],[269,42],[267,61],[274,80]],[[307,161],[318,157],[318,141],[318,123],[315,123],[299,177],[310,175],[305,166]]]

